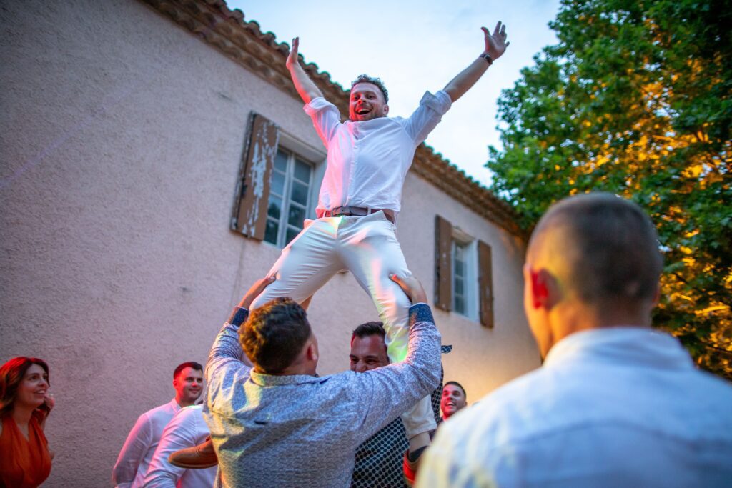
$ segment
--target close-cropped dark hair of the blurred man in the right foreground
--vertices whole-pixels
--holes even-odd
[[[654,298],[663,258],[656,228],[640,206],[611,193],[577,195],[550,207],[537,233],[549,226],[571,240],[567,286],[580,300],[633,306]]]

